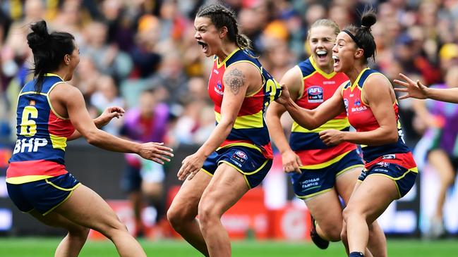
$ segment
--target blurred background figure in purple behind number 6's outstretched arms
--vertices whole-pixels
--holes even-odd
[[[121,136],[137,142],[164,142],[167,133],[169,108],[157,101],[154,90],[140,94],[138,107],[126,112]],[[150,211],[149,225],[155,225],[164,216],[164,168],[152,161],[142,160],[133,154],[126,154],[126,170],[121,188],[128,193],[135,219],[135,235],[147,235],[142,211]]]

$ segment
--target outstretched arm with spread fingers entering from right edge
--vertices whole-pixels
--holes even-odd
[[[406,75],[399,73],[404,80],[394,80],[394,83],[399,84],[404,88],[395,88],[397,92],[405,92],[404,96],[399,97],[399,99],[406,99],[409,97],[416,99],[434,99],[438,101],[447,101],[450,103],[458,104],[458,88],[448,88],[448,89],[437,89],[437,88],[428,88],[424,84],[417,80],[411,80]]]

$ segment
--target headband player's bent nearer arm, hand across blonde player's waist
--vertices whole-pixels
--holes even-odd
[[[325,130],[320,132],[320,138],[325,144],[334,145],[341,142],[350,142],[378,146],[397,142],[399,135],[396,115],[393,109],[395,97],[390,82],[380,74],[370,76],[364,84],[362,97],[370,106],[370,110],[372,110],[379,127],[367,132]]]

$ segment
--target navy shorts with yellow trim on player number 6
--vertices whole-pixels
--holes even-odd
[[[80,184],[73,175],[66,173],[23,184],[6,183],[6,188],[20,211],[28,213],[35,209],[42,215],[47,215],[64,203]]]

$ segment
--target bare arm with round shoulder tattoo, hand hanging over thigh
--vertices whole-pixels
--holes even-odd
[[[179,180],[191,180],[202,168],[205,158],[215,151],[227,138],[234,127],[243,99],[250,85],[260,85],[260,73],[250,63],[236,63],[224,71],[224,97],[221,105],[221,119],[207,141],[197,152],[186,157],[178,172]],[[189,176],[188,176],[189,175]]]

